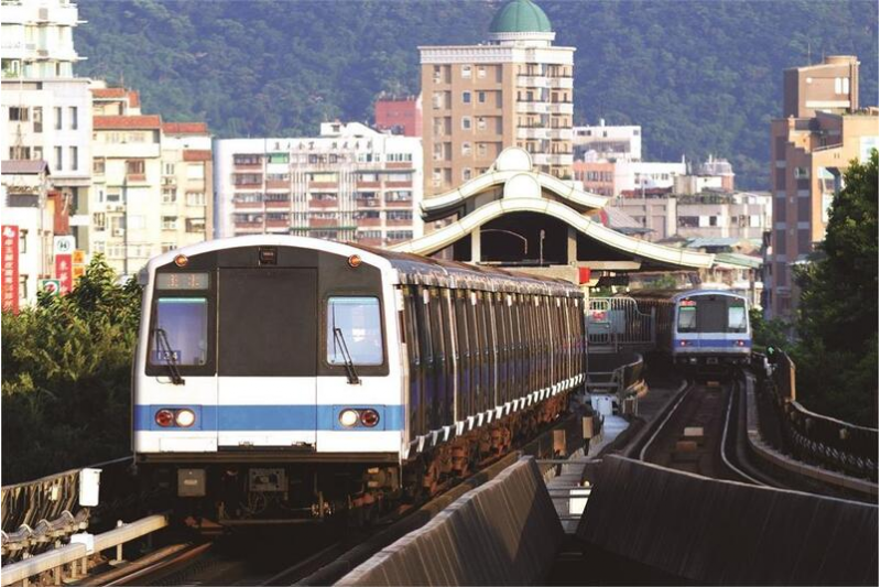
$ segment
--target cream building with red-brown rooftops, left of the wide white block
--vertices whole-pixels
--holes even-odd
[[[211,137],[204,123],[143,115],[137,91],[93,89],[94,186],[88,252],[122,275],[211,238]]]

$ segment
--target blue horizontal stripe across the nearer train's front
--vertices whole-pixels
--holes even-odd
[[[175,431],[163,428],[155,421],[159,410],[187,407],[196,414],[196,423],[186,430],[233,431],[402,431],[404,430],[403,405],[188,405],[155,404],[134,406],[135,431]],[[376,427],[345,428],[339,424],[339,412],[346,407],[371,407],[379,412]]]

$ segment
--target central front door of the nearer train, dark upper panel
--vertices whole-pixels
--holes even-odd
[[[220,269],[218,445],[316,442],[317,271]]]

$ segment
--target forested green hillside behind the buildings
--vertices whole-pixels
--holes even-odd
[[[124,81],[166,119],[231,135],[369,120],[380,91],[418,91],[418,45],[476,43],[500,1],[80,0],[81,75]],[[539,0],[576,52],[576,122],[639,123],[644,156],[731,160],[766,188],[782,69],[857,54],[878,104],[877,2]]]

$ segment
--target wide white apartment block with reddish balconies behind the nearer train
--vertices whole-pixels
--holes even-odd
[[[215,144],[217,236],[261,232],[384,247],[422,235],[422,144],[357,122],[318,137]]]

